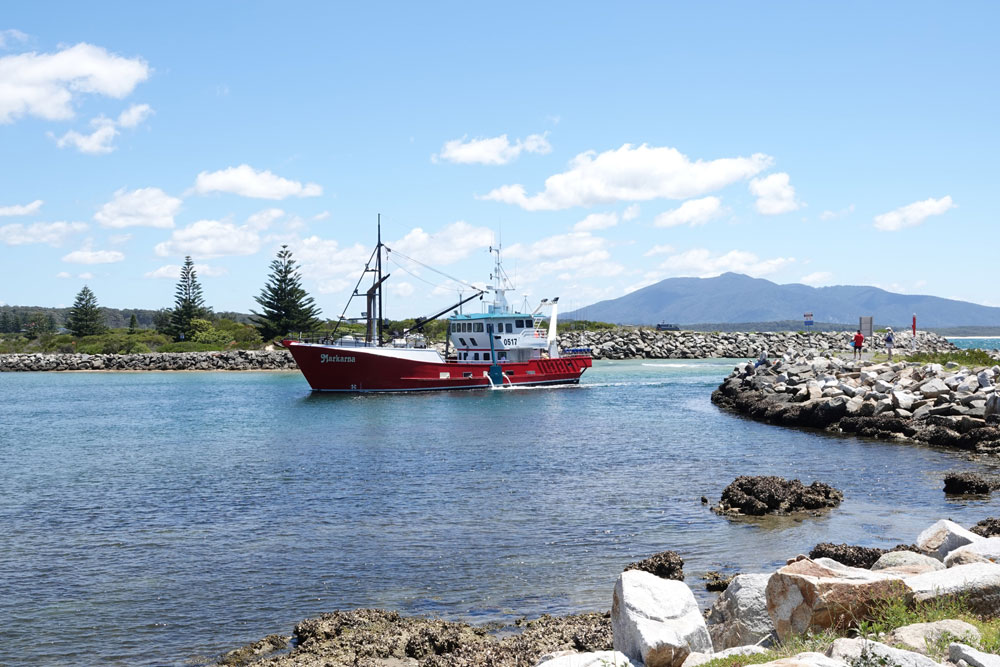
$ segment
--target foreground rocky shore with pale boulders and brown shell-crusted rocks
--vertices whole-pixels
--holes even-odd
[[[916,536],[910,548],[886,553],[866,567],[796,556],[776,571],[736,576],[705,614],[681,580],[683,561],[665,552],[618,576],[609,591],[610,614],[544,616],[514,628],[491,628],[371,609],[334,612],[303,621],[294,638],[266,637],[217,664],[697,667],[719,659],[729,660],[715,664],[771,667],[1000,664],[1000,656],[991,653],[995,638],[984,632],[995,634],[990,624],[1000,615],[1000,565],[994,562],[1000,539],[942,520]],[[865,631],[866,622],[887,605],[913,613],[881,617],[884,634]],[[921,609],[935,620],[912,622],[922,618]],[[941,618],[942,611],[955,616]],[[754,657],[738,657],[749,655]]]

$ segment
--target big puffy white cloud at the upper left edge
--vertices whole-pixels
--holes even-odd
[[[21,53],[0,58],[0,124],[20,116],[46,120],[73,117],[81,95],[121,99],[149,78],[141,58],[123,58],[81,43],[56,53]]]

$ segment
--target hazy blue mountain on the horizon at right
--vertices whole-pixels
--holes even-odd
[[[837,285],[809,287],[739,273],[716,278],[668,278],[631,294],[601,301],[562,315],[564,319],[616,324],[671,322],[802,321],[812,313],[816,322],[856,324],[861,315],[875,326],[1000,326],[1000,308],[936,296],[895,294],[877,287]]]

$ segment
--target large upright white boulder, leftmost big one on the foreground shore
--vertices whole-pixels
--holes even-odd
[[[615,650],[646,667],[680,667],[691,652],[713,652],[691,589],[640,570],[618,576],[611,631]]]

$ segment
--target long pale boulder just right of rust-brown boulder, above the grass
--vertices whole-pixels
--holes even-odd
[[[996,616],[1000,614],[1000,565],[971,563],[947,570],[927,572],[905,580],[913,602],[957,599],[972,611]]]

